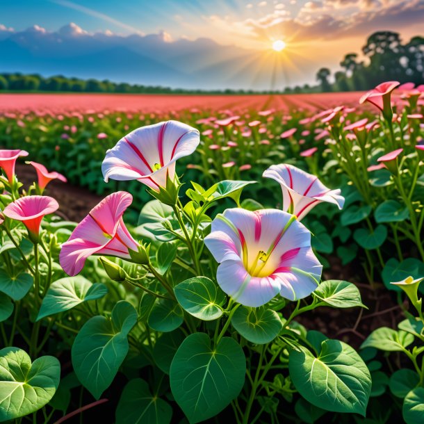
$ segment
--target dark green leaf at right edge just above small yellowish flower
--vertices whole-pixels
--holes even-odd
[[[424,263],[415,258],[407,258],[405,261],[399,262],[397,259],[391,258],[386,262],[383,268],[382,279],[384,286],[389,290],[402,291],[401,288],[395,286],[394,282],[400,282],[409,276],[416,278],[423,277]]]

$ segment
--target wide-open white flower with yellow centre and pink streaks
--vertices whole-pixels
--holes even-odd
[[[260,307],[278,293],[302,299],[318,286],[323,267],[311,250],[311,233],[289,213],[227,209],[204,243],[220,263],[218,284],[245,306]]]

